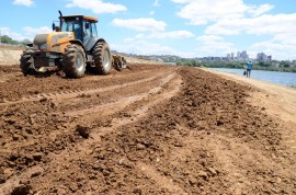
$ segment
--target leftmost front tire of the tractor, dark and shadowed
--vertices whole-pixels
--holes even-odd
[[[20,68],[24,76],[36,73],[34,60],[33,57],[31,57],[32,53],[33,53],[32,48],[26,48],[21,55]]]

